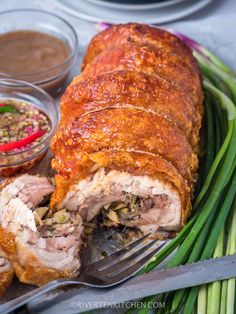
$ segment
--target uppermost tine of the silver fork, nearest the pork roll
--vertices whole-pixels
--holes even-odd
[[[150,236],[150,233],[144,235],[143,237],[139,238],[138,240],[132,242],[131,244],[125,246],[123,249],[116,251],[115,253],[95,262],[92,263],[90,265],[88,265],[87,267],[101,267],[101,266],[105,266],[105,265],[109,265],[111,261],[113,261],[115,258],[118,258],[122,255],[125,255],[125,253],[127,253],[129,250],[135,248],[136,246],[138,246],[140,243],[142,243],[147,237]],[[87,268],[86,267],[86,268]]]

